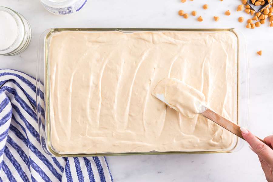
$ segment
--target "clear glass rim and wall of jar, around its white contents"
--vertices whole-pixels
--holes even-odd
[[[8,45],[7,48],[0,49],[0,55],[17,55],[23,52],[30,43],[32,32],[29,22],[21,14],[13,11],[10,8],[0,6],[0,12],[1,11],[8,13],[8,15],[10,15],[15,20],[17,24],[17,26],[15,25],[15,28],[17,28],[17,36],[15,38],[15,41],[11,45]],[[0,19],[0,24],[1,21],[4,21],[4,19]]]

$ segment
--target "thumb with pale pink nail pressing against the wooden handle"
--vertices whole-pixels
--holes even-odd
[[[253,148],[254,152],[258,154],[265,162],[269,165],[273,164],[273,150],[268,147],[265,143],[258,140],[258,138],[253,135],[250,131],[241,127],[242,136],[244,140],[249,143]]]

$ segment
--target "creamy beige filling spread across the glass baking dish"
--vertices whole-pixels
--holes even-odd
[[[225,150],[233,135],[152,95],[177,78],[237,121],[232,32],[55,32],[49,39],[52,146],[60,153]]]

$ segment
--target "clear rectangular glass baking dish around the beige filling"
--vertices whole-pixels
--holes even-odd
[[[234,142],[226,150],[205,150],[205,151],[170,151],[170,152],[126,152],[126,153],[60,153],[54,149],[51,143],[50,130],[50,96],[49,96],[49,38],[54,32],[60,31],[120,31],[131,33],[137,31],[163,32],[163,31],[198,31],[215,32],[229,31],[235,34],[238,40],[237,65],[237,124],[247,128],[248,124],[248,103],[249,103],[249,76],[246,42],[244,35],[235,29],[139,29],[139,28],[110,28],[110,29],[48,29],[42,33],[39,41],[37,73],[36,73],[36,99],[37,115],[39,124],[40,141],[43,150],[53,156],[83,157],[83,156],[113,156],[113,155],[147,155],[147,154],[188,154],[188,153],[232,153],[242,148],[244,141],[234,135]]]

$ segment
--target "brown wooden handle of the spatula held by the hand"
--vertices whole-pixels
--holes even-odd
[[[201,113],[203,116],[205,116],[207,119],[213,121],[214,123],[217,123],[218,125],[222,126],[223,128],[227,129],[228,131],[230,131],[231,133],[239,136],[240,138],[242,138],[244,140],[244,137],[242,136],[241,133],[241,129],[240,126],[238,126],[236,123],[233,123],[229,120],[227,120],[226,118],[220,116],[217,113],[214,113],[212,110],[207,109],[205,110],[203,113]],[[257,137],[257,136],[256,136]],[[263,143],[265,143],[264,140],[260,139],[259,137],[257,137],[260,141],[262,141]],[[271,145],[265,143],[266,145],[268,145],[268,147],[271,147]]]

